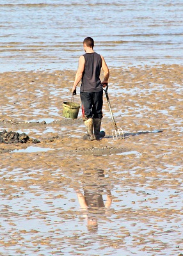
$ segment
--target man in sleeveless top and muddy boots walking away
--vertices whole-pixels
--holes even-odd
[[[109,79],[109,68],[104,58],[93,51],[94,41],[86,37],[83,41],[84,55],[79,58],[72,94],[76,93],[76,86],[81,81],[80,97],[83,121],[86,125],[87,134],[84,140],[100,140],[105,132],[100,132],[103,106],[103,87],[107,86]],[[104,80],[100,81],[100,70],[104,71]],[[93,136],[94,128],[94,136]]]

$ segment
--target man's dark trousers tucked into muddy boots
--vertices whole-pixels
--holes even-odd
[[[103,90],[100,92],[80,92],[83,120],[102,118]]]

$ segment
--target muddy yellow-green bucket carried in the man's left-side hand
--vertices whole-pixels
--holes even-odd
[[[79,113],[80,105],[74,102],[63,102],[62,114],[66,118],[76,119]]]

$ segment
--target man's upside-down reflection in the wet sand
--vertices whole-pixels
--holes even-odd
[[[106,214],[112,202],[111,191],[104,185],[103,170],[86,170],[84,172],[83,191],[84,195],[76,190],[79,204],[84,211],[84,216],[87,218],[87,227],[91,232],[98,229],[97,216]],[[106,191],[106,203],[102,195]]]

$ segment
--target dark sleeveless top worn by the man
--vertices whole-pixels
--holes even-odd
[[[100,81],[102,58],[97,52],[85,53],[85,67],[80,92],[100,92],[103,90]]]

